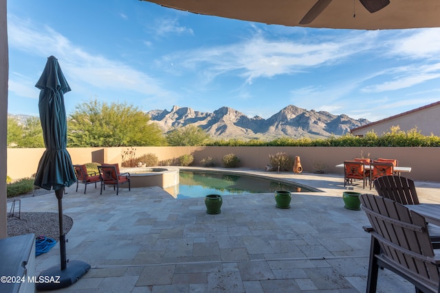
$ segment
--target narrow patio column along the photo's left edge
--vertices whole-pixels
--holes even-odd
[[[6,160],[8,132],[8,25],[6,0],[0,0],[0,239],[8,235],[6,224]]]

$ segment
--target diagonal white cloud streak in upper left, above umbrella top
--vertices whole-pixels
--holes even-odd
[[[89,54],[51,27],[39,27],[35,23],[8,16],[8,31],[10,47],[45,58],[56,56],[62,60],[61,67],[65,75],[73,82],[157,97],[170,95],[168,90],[159,85],[159,80],[120,61]],[[12,90],[19,89],[12,78]],[[28,93],[23,91],[21,95],[27,96]]]

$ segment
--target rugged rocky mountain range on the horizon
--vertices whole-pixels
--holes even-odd
[[[168,110],[150,110],[151,121],[164,132],[187,125],[199,126],[216,139],[275,139],[277,137],[311,139],[341,136],[369,124],[367,119],[353,119],[347,115],[333,115],[325,111],[305,110],[289,105],[268,119],[249,118],[229,107],[213,113],[199,112],[188,107],[173,106]]]

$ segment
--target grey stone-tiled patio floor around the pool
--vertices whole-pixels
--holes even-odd
[[[67,258],[91,270],[60,292],[365,292],[370,237],[363,211],[344,209],[341,174],[277,174],[322,192],[297,193],[290,209],[273,194],[223,196],[209,215],[203,198],[176,200],[159,187],[116,196],[76,185],[63,199],[74,220]],[[438,202],[439,184],[417,183],[422,202]],[[375,193],[358,185],[355,191]],[[54,194],[23,198],[22,211],[58,211]],[[58,244],[36,257],[36,272],[60,263]],[[377,292],[413,292],[380,271]]]

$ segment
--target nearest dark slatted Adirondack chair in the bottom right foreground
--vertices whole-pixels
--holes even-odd
[[[379,268],[415,285],[416,292],[440,292],[440,255],[435,255],[423,216],[394,200],[362,194],[362,209],[371,227],[366,292],[376,292]]]

